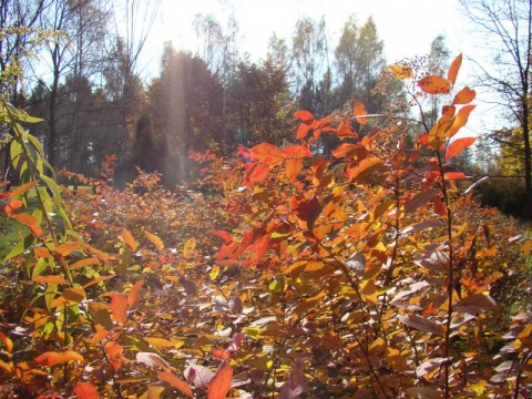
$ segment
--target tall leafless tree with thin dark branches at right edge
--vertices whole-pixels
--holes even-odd
[[[464,13],[485,39],[491,62],[477,63],[479,84],[492,94],[490,102],[520,130],[520,160],[524,164],[525,213],[532,216],[531,62],[532,0],[461,0]],[[501,146],[515,146],[503,132],[492,132]]]

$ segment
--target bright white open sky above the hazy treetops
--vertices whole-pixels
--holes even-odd
[[[252,61],[266,55],[268,39],[274,32],[289,42],[297,20],[303,17],[317,21],[325,18],[334,49],[351,14],[359,25],[374,18],[389,64],[428,54],[438,34],[446,38],[451,58],[459,53],[463,53],[464,59],[479,58],[474,44],[468,40],[469,24],[460,12],[459,0],[161,0],[144,54],[149,71],[158,72],[164,41],[172,41],[178,50],[196,50],[192,25],[196,13],[211,14],[222,27],[233,13],[239,27],[238,48],[247,52]],[[464,61],[457,84],[468,83],[472,63]],[[477,116],[481,119],[481,108],[478,111]],[[473,114],[470,126],[478,130],[474,119]]]

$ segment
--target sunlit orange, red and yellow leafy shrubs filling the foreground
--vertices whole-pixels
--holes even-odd
[[[474,142],[457,136],[474,109],[474,91],[454,88],[460,63],[418,80],[390,68],[450,99],[413,149],[395,116],[358,101],[344,117],[299,111],[296,144],[191,154],[190,190],[141,173],[119,192],[112,157],[91,191],[61,190],[6,105],[28,172],[0,194],[2,215],[29,233],[6,259],[23,303],[0,301],[0,392],[530,397],[532,320],[505,326],[490,293],[532,242],[449,168]],[[332,158],[313,154],[321,134],[340,139]]]

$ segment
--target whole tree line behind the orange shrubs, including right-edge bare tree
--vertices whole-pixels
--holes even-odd
[[[346,19],[335,38],[324,18],[300,18],[290,38],[273,33],[267,53],[252,61],[239,51],[234,17],[222,24],[213,16],[197,14],[191,27],[196,50],[162,43],[158,71],[147,80],[139,59],[160,1],[0,0],[0,83],[14,105],[43,119],[31,133],[53,168],[94,176],[105,155],[116,154],[117,181],[131,180],[139,166],[162,172],[173,186],[187,177],[188,151],[227,154],[238,144],[282,144],[299,109],[320,117],[357,100],[369,113],[409,112],[403,88],[386,79],[385,43],[375,21],[360,22],[356,16]],[[490,41],[492,65],[478,63],[479,83],[493,93],[508,121],[508,127],[484,132],[487,146],[480,147],[497,162],[473,172],[522,175],[529,200],[530,4],[461,4],[487,40],[498,39]],[[444,38],[437,37],[428,57],[408,62],[438,74],[448,68],[449,57]],[[18,78],[10,79],[13,60],[18,70],[12,75]],[[434,101],[423,104],[429,124],[443,105]],[[416,124],[411,129],[418,133]],[[327,154],[335,140],[324,135],[315,150]],[[460,166],[472,167],[471,152],[466,155]]]

